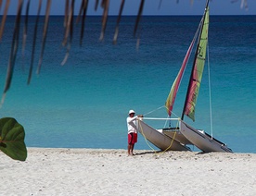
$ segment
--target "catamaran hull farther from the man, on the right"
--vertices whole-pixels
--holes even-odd
[[[222,141],[211,138],[211,136],[203,130],[198,130],[190,127],[182,120],[180,120],[180,128],[181,133],[186,137],[186,139],[188,141],[191,141],[195,146],[198,147],[198,149],[205,153],[232,153],[232,150],[229,149]]]

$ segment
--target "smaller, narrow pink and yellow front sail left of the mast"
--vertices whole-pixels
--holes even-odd
[[[174,101],[175,101],[175,98],[176,98],[176,94],[178,92],[178,89],[179,89],[179,86],[180,86],[180,82],[182,80],[184,71],[186,69],[187,61],[189,59],[189,56],[190,56],[191,51],[192,51],[192,48],[193,48],[194,43],[196,41],[197,34],[198,34],[198,31],[197,31],[197,33],[196,33],[192,43],[190,43],[190,46],[189,46],[189,48],[188,48],[188,50],[186,52],[186,56],[185,56],[185,58],[183,60],[182,67],[180,68],[179,73],[178,73],[176,79],[173,81],[173,86],[172,86],[171,91],[169,92],[169,95],[168,95],[167,100],[165,102],[165,107],[167,109],[167,113],[168,113],[169,116],[172,115],[173,104],[174,104]]]

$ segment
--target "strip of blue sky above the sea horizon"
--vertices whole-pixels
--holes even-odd
[[[194,0],[191,4],[191,0],[162,0],[160,9],[158,8],[160,0],[146,0],[144,6],[143,15],[201,15],[204,11],[206,0]],[[256,15],[256,0],[247,0],[248,9],[241,8],[241,0],[237,0],[237,3],[231,3],[236,0],[211,0],[210,11],[211,15]],[[8,14],[13,15],[17,10],[18,0],[12,0]],[[25,3],[27,1],[24,1]],[[37,11],[38,0],[32,0],[31,3],[31,15],[35,15]],[[46,0],[43,0],[44,5]],[[78,13],[80,2],[76,0],[76,13]],[[117,15],[119,12],[121,0],[111,0],[109,15]],[[123,9],[123,15],[136,15],[139,7],[140,0],[126,0]],[[51,15],[63,15],[64,13],[64,0],[52,0]],[[5,5],[3,5],[4,7]],[[25,6],[25,5],[24,5]],[[98,11],[94,11],[95,0],[89,0],[89,15],[101,15],[102,9],[98,8]],[[3,13],[3,7],[1,14]],[[135,7],[135,8],[134,8]],[[45,9],[43,9],[45,12]],[[44,13],[43,12],[43,13]]]

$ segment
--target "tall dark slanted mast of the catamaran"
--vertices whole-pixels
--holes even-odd
[[[200,43],[200,38],[201,38],[201,35],[202,35],[204,23],[205,23],[205,18],[206,18],[206,13],[207,13],[207,10],[208,10],[208,5],[209,5],[209,0],[207,0],[206,6],[205,6],[205,10],[204,10],[204,14],[203,14],[203,19],[202,19],[201,25],[200,25],[201,27],[200,27],[200,32],[199,32],[199,36],[198,36],[198,45],[197,45],[197,50],[196,50],[195,57],[194,57],[193,67],[191,69],[189,84],[188,84],[187,91],[186,91],[186,100],[185,100],[185,104],[184,104],[184,108],[183,108],[183,113],[182,113],[182,117],[181,117],[182,120],[184,119],[184,115],[185,115],[185,112],[186,112],[186,103],[187,103],[188,98],[189,98],[189,92],[190,92],[192,81],[193,81],[193,73],[194,73],[194,69],[196,67],[199,43]]]

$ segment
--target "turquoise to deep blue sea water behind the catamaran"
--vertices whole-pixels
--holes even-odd
[[[0,43],[0,91],[6,80],[15,18],[7,18]],[[40,75],[36,75],[44,18],[37,35],[32,82],[27,85],[35,18],[29,20],[25,53],[21,39],[11,88],[0,116],[13,116],[26,132],[28,147],[126,149],[129,109],[145,116],[166,117],[162,107],[173,80],[198,28],[200,17],[143,17],[140,45],[133,36],[134,17],[124,17],[118,44],[112,44],[116,18],[109,17],[103,42],[99,42],[100,17],[86,18],[83,46],[80,26],[73,32],[70,57],[61,66],[66,49],[63,18],[52,17]],[[23,26],[21,26],[22,30]],[[22,35],[20,34],[20,37]],[[210,18],[209,64],[213,136],[234,152],[256,153],[256,17]],[[173,112],[180,116],[189,76],[187,66]],[[211,133],[208,65],[198,96],[198,129]],[[154,125],[161,128],[164,122]],[[135,149],[153,145],[139,135]],[[155,148],[156,149],[156,148]],[[197,150],[196,148],[194,150]]]

